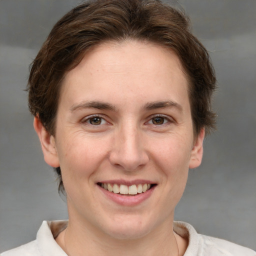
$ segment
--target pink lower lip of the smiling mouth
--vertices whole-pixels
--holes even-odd
[[[98,186],[98,185],[97,185]],[[124,206],[135,206],[145,201],[153,192],[156,185],[146,190],[146,192],[137,193],[136,195],[120,195],[98,186],[98,188],[107,196],[110,200]]]

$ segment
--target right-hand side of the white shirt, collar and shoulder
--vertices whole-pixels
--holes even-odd
[[[174,221],[174,231],[188,240],[184,256],[256,256],[256,252],[241,245],[198,234],[192,225]]]

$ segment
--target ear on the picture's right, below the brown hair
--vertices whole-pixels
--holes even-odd
[[[190,154],[189,168],[196,168],[201,164],[202,161],[202,142],[204,138],[204,128],[201,129],[200,133],[197,135],[193,148]]]

